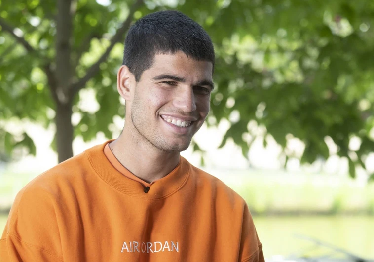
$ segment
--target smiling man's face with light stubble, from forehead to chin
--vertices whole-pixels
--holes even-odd
[[[186,150],[210,109],[212,67],[183,52],[155,55],[133,91],[134,138],[167,152]]]

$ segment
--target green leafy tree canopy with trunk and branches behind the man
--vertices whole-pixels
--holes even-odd
[[[208,125],[229,119],[222,145],[233,139],[246,155],[260,135],[256,123],[265,128],[264,144],[273,137],[282,146],[285,162],[301,157],[312,163],[337,153],[348,158],[352,176],[356,165],[365,168],[374,149],[373,2],[168,2],[0,2],[0,119],[28,118],[44,126],[54,120],[59,161],[72,156],[75,136],[87,141],[101,131],[110,138],[112,117],[124,115],[115,77],[125,32],[143,15],[176,8],[215,44],[218,88]],[[94,90],[100,110],[79,107],[82,89]],[[75,126],[73,112],[80,118]],[[2,132],[8,149],[16,143],[33,149],[26,132],[18,141]],[[290,137],[304,142],[302,156],[288,150]],[[359,149],[349,148],[352,137],[361,141]],[[326,139],[337,152],[329,152]]]

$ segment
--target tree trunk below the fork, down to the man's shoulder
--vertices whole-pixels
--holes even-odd
[[[73,156],[73,125],[71,103],[56,105],[56,143],[58,162]]]

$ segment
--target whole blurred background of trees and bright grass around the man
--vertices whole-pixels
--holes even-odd
[[[374,259],[372,0],[0,0],[0,231],[31,179],[119,135],[125,34],[165,9],[217,56],[182,155],[247,201],[265,258]]]

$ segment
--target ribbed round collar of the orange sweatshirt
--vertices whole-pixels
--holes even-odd
[[[112,166],[104,154],[104,147],[109,142],[94,146],[86,150],[85,154],[96,173],[111,187],[134,197],[162,199],[174,194],[187,183],[190,164],[181,156],[177,167],[165,177],[155,181],[148,193],[145,193],[144,187],[139,182],[125,177]],[[130,174],[130,171],[128,172]]]

